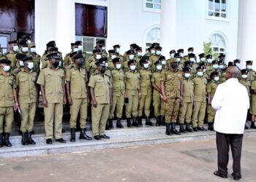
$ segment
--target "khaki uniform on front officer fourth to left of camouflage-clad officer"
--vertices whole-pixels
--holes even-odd
[[[124,107],[124,71],[121,69],[112,70],[111,79],[113,86],[113,104],[110,107],[110,119],[113,119],[115,111],[116,117],[121,119]]]

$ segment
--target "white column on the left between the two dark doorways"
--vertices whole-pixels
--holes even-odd
[[[75,1],[55,0],[55,41],[63,56],[70,52],[70,43],[75,42]]]

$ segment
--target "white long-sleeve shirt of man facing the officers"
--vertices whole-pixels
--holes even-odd
[[[219,84],[211,102],[217,110],[214,119],[214,130],[227,134],[244,133],[249,96],[244,85],[238,79],[227,79]]]

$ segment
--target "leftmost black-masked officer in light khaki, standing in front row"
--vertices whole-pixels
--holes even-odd
[[[42,105],[45,112],[46,143],[53,143],[53,120],[56,141],[66,143],[61,138],[63,105],[67,103],[64,70],[59,68],[61,57],[58,53],[49,54],[47,58],[50,66],[41,70],[37,80],[37,84],[41,85]]]

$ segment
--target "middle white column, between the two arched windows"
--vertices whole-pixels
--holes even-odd
[[[161,47],[162,55],[176,49],[176,0],[161,1]],[[169,57],[169,56],[167,56]]]

